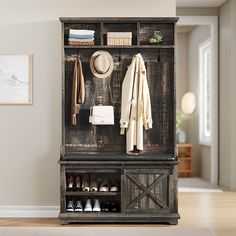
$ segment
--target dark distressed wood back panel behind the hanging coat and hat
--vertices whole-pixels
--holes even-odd
[[[119,119],[121,89],[127,66],[132,57],[140,52],[145,60],[150,90],[153,128],[144,131],[144,150],[155,153],[174,154],[174,61],[173,49],[107,49],[115,61],[111,79],[98,79],[92,76],[89,58],[94,49],[67,50],[65,59],[77,53],[83,63],[85,75],[85,103],[77,115],[77,125],[71,125],[71,89],[73,61],[65,62],[65,145],[67,149],[75,147],[77,151],[125,152],[125,136],[120,135]],[[119,57],[121,60],[119,61]],[[160,59],[160,61],[158,60]],[[89,122],[89,109],[99,104],[111,105],[109,83],[115,108],[115,125],[92,126]],[[72,149],[71,149],[72,150]]]

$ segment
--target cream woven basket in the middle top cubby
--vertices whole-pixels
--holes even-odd
[[[107,45],[132,45],[132,32],[107,32]]]

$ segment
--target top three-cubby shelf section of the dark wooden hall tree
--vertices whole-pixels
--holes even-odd
[[[174,47],[174,23],[178,18],[60,18],[64,23],[65,48],[107,47],[107,48],[170,48]],[[94,45],[69,45],[69,30],[94,30]],[[159,44],[150,44],[149,38],[155,31],[161,31],[164,38]],[[129,32],[131,45],[108,45],[107,33]]]

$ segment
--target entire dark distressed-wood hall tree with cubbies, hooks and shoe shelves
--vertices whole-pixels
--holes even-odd
[[[177,18],[60,18],[62,23],[62,147],[60,158],[61,209],[59,219],[67,223],[169,223],[177,224],[178,160],[175,153],[175,23]],[[70,46],[70,29],[95,31],[93,46]],[[164,39],[150,45],[154,31]],[[132,45],[107,45],[108,32],[131,32]],[[110,90],[115,124],[93,126],[90,107],[103,97],[110,104],[108,86],[94,78],[89,60],[97,50],[108,51],[114,60]],[[120,135],[121,90],[127,66],[141,53],[147,70],[153,127],[144,131],[144,152],[126,154],[125,136]],[[73,63],[79,57],[85,78],[85,102],[71,124]],[[104,84],[103,84],[104,85]],[[102,89],[101,89],[102,88]],[[100,94],[99,94],[100,92]],[[69,176],[95,175],[116,179],[116,192],[68,191]],[[118,211],[68,212],[68,201],[99,199],[116,201]]]

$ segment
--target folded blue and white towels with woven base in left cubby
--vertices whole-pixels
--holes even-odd
[[[70,46],[92,46],[94,45],[94,30],[70,29],[68,44]]]

